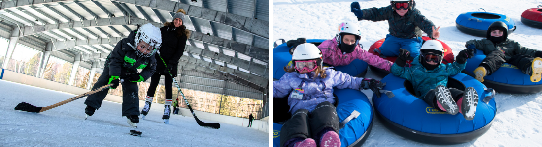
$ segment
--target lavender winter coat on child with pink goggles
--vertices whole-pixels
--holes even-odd
[[[359,85],[363,78],[355,78],[349,74],[335,71],[330,67],[324,68],[326,70],[326,78],[322,79],[321,76],[313,79],[314,72],[299,74],[296,72],[288,72],[280,78],[279,81],[273,82],[273,95],[274,97],[288,96],[288,105],[290,106],[290,113],[294,113],[298,109],[307,109],[312,112],[316,106],[328,101],[330,103],[335,102],[333,97],[333,87],[339,89],[351,88],[360,89]],[[300,86],[301,81],[305,81],[301,88],[305,94],[302,99],[292,98],[292,91]]]

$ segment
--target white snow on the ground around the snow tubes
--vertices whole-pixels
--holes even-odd
[[[276,0],[273,1],[273,38],[285,40],[305,37],[308,39],[331,39],[335,36],[338,24],[343,21],[357,23],[362,32],[360,43],[365,50],[375,41],[388,34],[388,22],[358,21],[350,12],[351,0]],[[357,1],[362,9],[382,8],[390,1]],[[455,19],[463,12],[478,11],[501,13],[514,20],[517,30],[508,36],[522,46],[542,50],[542,30],[533,29],[521,23],[521,13],[527,9],[542,5],[539,0],[517,1],[422,1],[416,0],[416,8],[422,15],[440,26],[439,40],[448,44],[454,54],[463,50],[470,39],[482,39],[469,36],[456,29]],[[373,72],[366,77],[378,78]],[[372,96],[370,90],[364,90]],[[542,93],[495,95],[497,114],[491,129],[474,141],[447,146],[542,146]],[[371,98],[370,98],[371,99]],[[376,117],[375,117],[376,118]],[[375,119],[371,135],[363,146],[433,146],[418,143],[393,134]]]

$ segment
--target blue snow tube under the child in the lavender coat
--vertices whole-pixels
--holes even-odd
[[[373,125],[373,108],[367,96],[360,92],[359,90],[354,89],[333,89],[333,93],[338,97],[337,105],[337,115],[339,116],[339,121],[343,122],[345,118],[349,117],[354,110],[358,111],[360,114],[358,117],[353,118],[348,121],[343,129],[339,130],[339,137],[341,141],[341,146],[362,146],[369,134],[371,133]],[[287,97],[283,98],[287,99]],[[282,101],[279,105],[284,105],[286,101],[284,100],[275,100],[276,102]],[[287,115],[291,116],[287,111],[289,109],[288,105],[280,109],[286,110],[288,114],[278,114],[277,107],[274,107],[274,116]],[[282,111],[285,112],[285,111]],[[273,123],[273,146],[280,146],[280,129],[282,124],[279,124],[280,120],[274,118]]]

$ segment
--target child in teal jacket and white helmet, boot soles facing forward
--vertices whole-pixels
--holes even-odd
[[[411,67],[404,67],[405,61],[412,59],[410,52],[400,49],[399,57],[391,66],[391,73],[412,83],[415,95],[429,106],[455,115],[463,114],[466,120],[472,120],[478,106],[478,93],[473,87],[465,91],[447,88],[448,76],[461,72],[473,50],[465,49],[457,54],[456,61],[442,64],[444,48],[440,41],[427,40],[420,50],[420,55],[412,61]]]

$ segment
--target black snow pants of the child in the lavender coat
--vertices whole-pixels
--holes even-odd
[[[331,128],[339,134],[339,117],[335,107],[330,102],[322,102],[309,113],[307,109],[298,109],[292,114],[280,129],[280,146],[292,138],[313,138],[318,141],[317,134]]]

